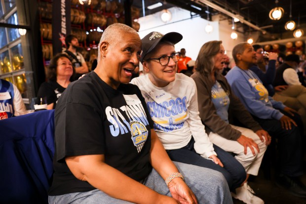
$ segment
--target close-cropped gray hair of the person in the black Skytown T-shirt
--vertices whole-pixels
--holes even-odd
[[[107,42],[110,43],[111,46],[113,46],[113,45],[116,44],[117,41],[119,41],[120,34],[123,35],[123,34],[126,34],[126,33],[138,35],[138,33],[136,32],[135,29],[133,29],[133,28],[131,28],[131,27],[125,25],[125,24],[122,24],[122,23],[114,23],[114,24],[108,26],[105,29],[105,31],[103,32],[100,43],[99,43],[99,46],[98,46],[99,49],[98,49],[98,59],[97,59],[97,61],[99,62],[100,58],[101,58],[101,51],[100,51],[101,42],[107,41]]]

